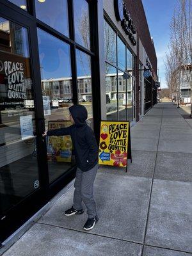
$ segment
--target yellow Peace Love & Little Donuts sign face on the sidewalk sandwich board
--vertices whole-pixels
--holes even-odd
[[[127,166],[129,122],[101,121],[99,164]]]

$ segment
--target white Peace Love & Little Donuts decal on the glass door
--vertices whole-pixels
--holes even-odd
[[[31,86],[29,58],[1,52],[0,109],[24,108],[24,101],[33,99]]]

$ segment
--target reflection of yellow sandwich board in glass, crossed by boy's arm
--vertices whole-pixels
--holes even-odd
[[[72,125],[70,121],[49,121],[48,130],[65,128]],[[47,143],[48,161],[71,162],[72,140],[70,135],[49,136]]]

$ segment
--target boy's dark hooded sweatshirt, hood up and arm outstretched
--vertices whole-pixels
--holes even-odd
[[[75,124],[47,132],[47,136],[70,135],[74,145],[77,167],[86,172],[98,163],[98,147],[92,129],[86,124],[87,110],[82,105],[69,108]]]

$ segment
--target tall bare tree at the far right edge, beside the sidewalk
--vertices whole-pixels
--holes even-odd
[[[191,88],[192,95],[192,13],[191,0],[178,0],[177,3],[170,24],[169,54],[166,58],[166,80],[169,88],[173,87],[173,90],[177,90],[177,98],[180,99],[180,84],[183,82],[184,77],[186,77],[188,86]],[[179,100],[177,106],[179,107]]]

